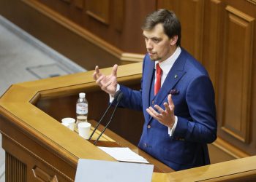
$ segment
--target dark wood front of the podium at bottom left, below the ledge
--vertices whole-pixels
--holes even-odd
[[[0,115],[2,147],[6,151],[6,174],[10,176],[8,178],[26,178],[25,181],[35,181],[36,178],[45,179],[47,176],[54,179],[57,177],[60,181],[72,181],[75,178],[76,165],[72,164],[71,160],[61,159],[61,155],[67,158],[66,150],[62,150],[62,154],[53,154],[53,150],[50,149],[50,145],[39,145],[40,140],[34,141],[37,138],[35,135],[27,135],[24,131],[21,131],[19,127],[15,127],[14,124],[8,122],[8,120]],[[3,128],[12,128],[3,131]],[[64,154],[66,153],[66,154]],[[64,165],[66,161],[68,165]],[[25,166],[25,167],[24,167]],[[35,167],[39,167],[44,171],[35,175]],[[46,175],[47,174],[47,175]],[[55,177],[56,176],[56,177]],[[12,180],[11,180],[12,181]]]

